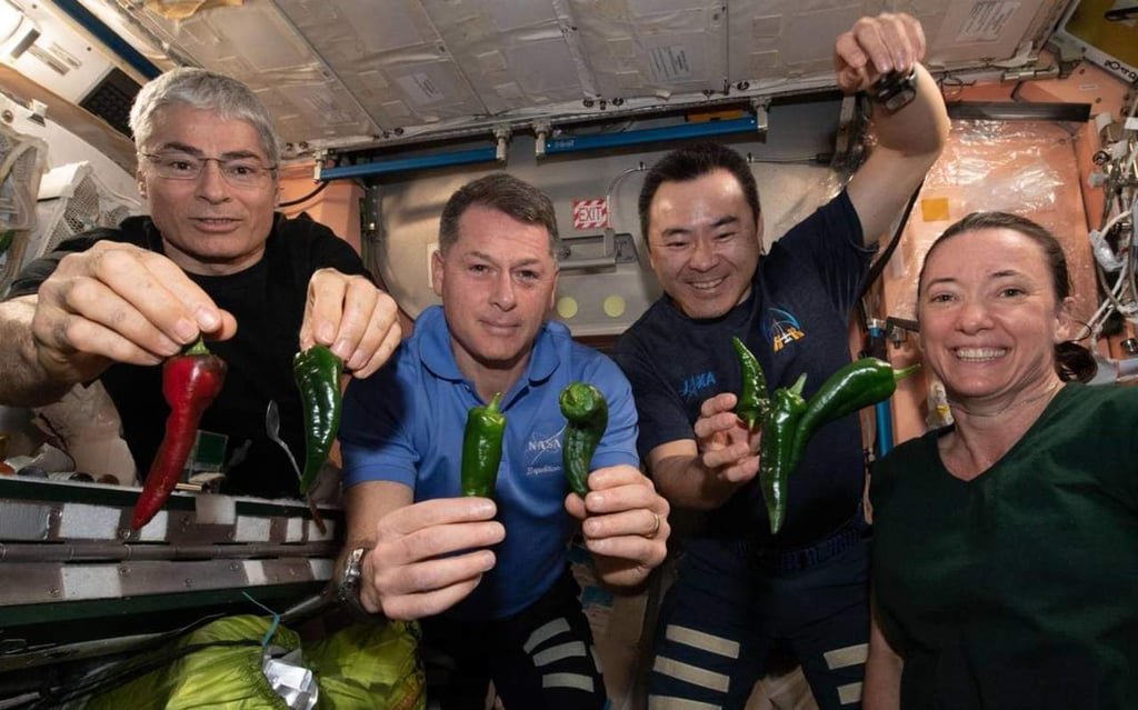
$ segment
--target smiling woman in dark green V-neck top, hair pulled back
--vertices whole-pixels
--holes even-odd
[[[873,473],[867,704],[1131,707],[1138,390],[1069,381],[1094,365],[1071,357],[1071,300],[1029,220],[973,214],[929,250],[921,347],[955,426]]]

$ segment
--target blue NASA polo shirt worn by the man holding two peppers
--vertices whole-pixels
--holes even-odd
[[[609,403],[609,428],[592,468],[640,465],[628,380],[607,356],[574,341],[563,324],[547,322],[526,372],[502,398],[506,428],[495,498],[506,536],[495,548],[497,565],[446,616],[509,617],[537,601],[564,571],[574,519],[563,505],[566,420],[558,396],[574,381],[596,386]],[[443,308],[427,308],[391,361],[347,388],[340,424],[345,487],[396,481],[411,487],[417,502],[461,495],[467,413],[481,404],[459,372]]]

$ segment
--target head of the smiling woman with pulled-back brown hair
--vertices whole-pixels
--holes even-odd
[[[1055,345],[1074,330],[1058,242],[1026,221],[973,215],[930,249],[918,281],[922,352],[954,410],[1030,416],[1024,405],[1059,383]]]

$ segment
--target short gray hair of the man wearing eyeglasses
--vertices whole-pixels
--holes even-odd
[[[261,137],[269,164],[280,163],[280,143],[272,116],[251,89],[241,82],[197,67],[179,67],[154,79],[139,91],[131,106],[131,132],[140,150],[154,133],[155,114],[183,105],[212,110],[228,121],[244,121]]]

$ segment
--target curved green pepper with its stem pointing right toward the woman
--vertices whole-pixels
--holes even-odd
[[[797,467],[802,460],[807,443],[819,427],[889,399],[897,391],[897,382],[920,366],[918,363],[904,370],[893,370],[883,360],[863,357],[830,375],[830,379],[823,382],[818,391],[806,403],[806,412],[798,422],[798,432],[794,435],[794,465]]]

